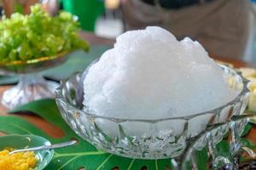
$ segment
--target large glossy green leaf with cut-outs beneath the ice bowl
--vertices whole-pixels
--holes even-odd
[[[34,126],[30,122],[26,122],[20,116],[15,116],[13,113],[32,112],[37,116],[42,117],[46,122],[51,123],[56,128],[61,129],[64,136],[60,139],[53,138],[41,129]],[[102,150],[97,150],[93,145],[86,142],[84,139],[73,132],[68,127],[67,123],[62,119],[54,99],[42,99],[34,101],[27,105],[22,105],[13,111],[10,111],[9,116],[0,116],[0,132],[3,133],[18,133],[18,134],[36,134],[49,139],[52,143],[67,141],[71,138],[79,139],[79,144],[72,147],[55,150],[53,160],[46,167],[46,170],[77,170],[84,167],[86,170],[111,170],[114,167],[119,167],[119,170],[141,170],[147,167],[148,170],[167,170],[171,169],[170,159],[164,160],[137,160],[121,156],[108,154]],[[251,125],[247,126],[245,133],[249,132]],[[252,149],[256,145],[247,139],[242,140],[247,147]],[[220,142],[217,146],[218,154],[228,156],[229,144],[226,140]],[[207,152],[206,150],[197,152],[197,163],[199,170],[207,169]],[[144,168],[145,169],[145,168]]]

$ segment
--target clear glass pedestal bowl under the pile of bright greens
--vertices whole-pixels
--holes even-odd
[[[33,100],[55,98],[55,88],[59,83],[46,81],[39,71],[61,65],[66,60],[67,53],[64,52],[39,59],[0,63],[2,75],[19,75],[18,84],[3,93],[2,104],[8,109],[13,109]]]

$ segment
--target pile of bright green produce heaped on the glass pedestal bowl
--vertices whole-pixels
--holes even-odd
[[[89,50],[79,37],[79,23],[72,14],[49,16],[39,4],[31,14],[12,14],[0,21],[0,62],[37,59],[74,49]]]

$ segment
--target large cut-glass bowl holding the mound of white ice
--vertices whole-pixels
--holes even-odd
[[[247,80],[227,66],[220,65],[230,87],[241,93],[228,104],[214,110],[191,116],[170,117],[165,119],[119,119],[96,116],[79,107],[79,82],[77,74],[61,82],[56,89],[56,104],[61,116],[80,137],[94,144],[100,150],[106,150],[119,156],[139,159],[162,159],[181,156],[189,143],[203,133],[207,127],[228,122],[233,116],[241,115],[249,97]],[[241,122],[241,132],[246,122]],[[131,129],[137,129],[136,131]],[[219,127],[212,133],[213,143],[217,144],[229,131],[229,127]],[[204,147],[204,139],[196,148]]]

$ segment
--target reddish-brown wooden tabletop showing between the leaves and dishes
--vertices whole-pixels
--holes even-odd
[[[94,34],[91,34],[91,33],[81,32],[80,36],[83,37],[84,39],[88,40],[88,42],[90,42],[90,44],[92,44],[92,45],[93,44],[113,45],[113,40],[96,37]],[[243,62],[238,59],[229,59],[229,58],[221,58],[221,57],[212,57],[212,58],[222,60],[224,62],[229,62],[229,63],[233,64],[236,68],[239,68],[239,67],[254,67],[254,68],[256,68],[255,65],[248,64],[248,63]],[[0,87],[0,95],[2,96],[3,92],[8,88],[11,88],[11,86],[1,86]],[[7,111],[8,110],[6,108],[4,108],[3,105],[0,105],[0,116],[7,116],[8,115]],[[58,128],[54,127],[53,125],[51,125],[48,122],[45,122],[42,118],[40,118],[38,116],[33,116],[31,114],[26,114],[26,113],[22,113],[22,114],[15,115],[15,116],[21,116],[21,117],[25,118],[28,122],[32,122],[36,127],[39,127],[45,133],[48,133],[49,136],[52,136],[54,138],[61,138],[61,136],[62,136],[62,133]],[[0,132],[0,135],[3,135],[3,133]],[[256,126],[253,126],[250,133],[248,133],[247,139],[250,139],[256,143]]]

